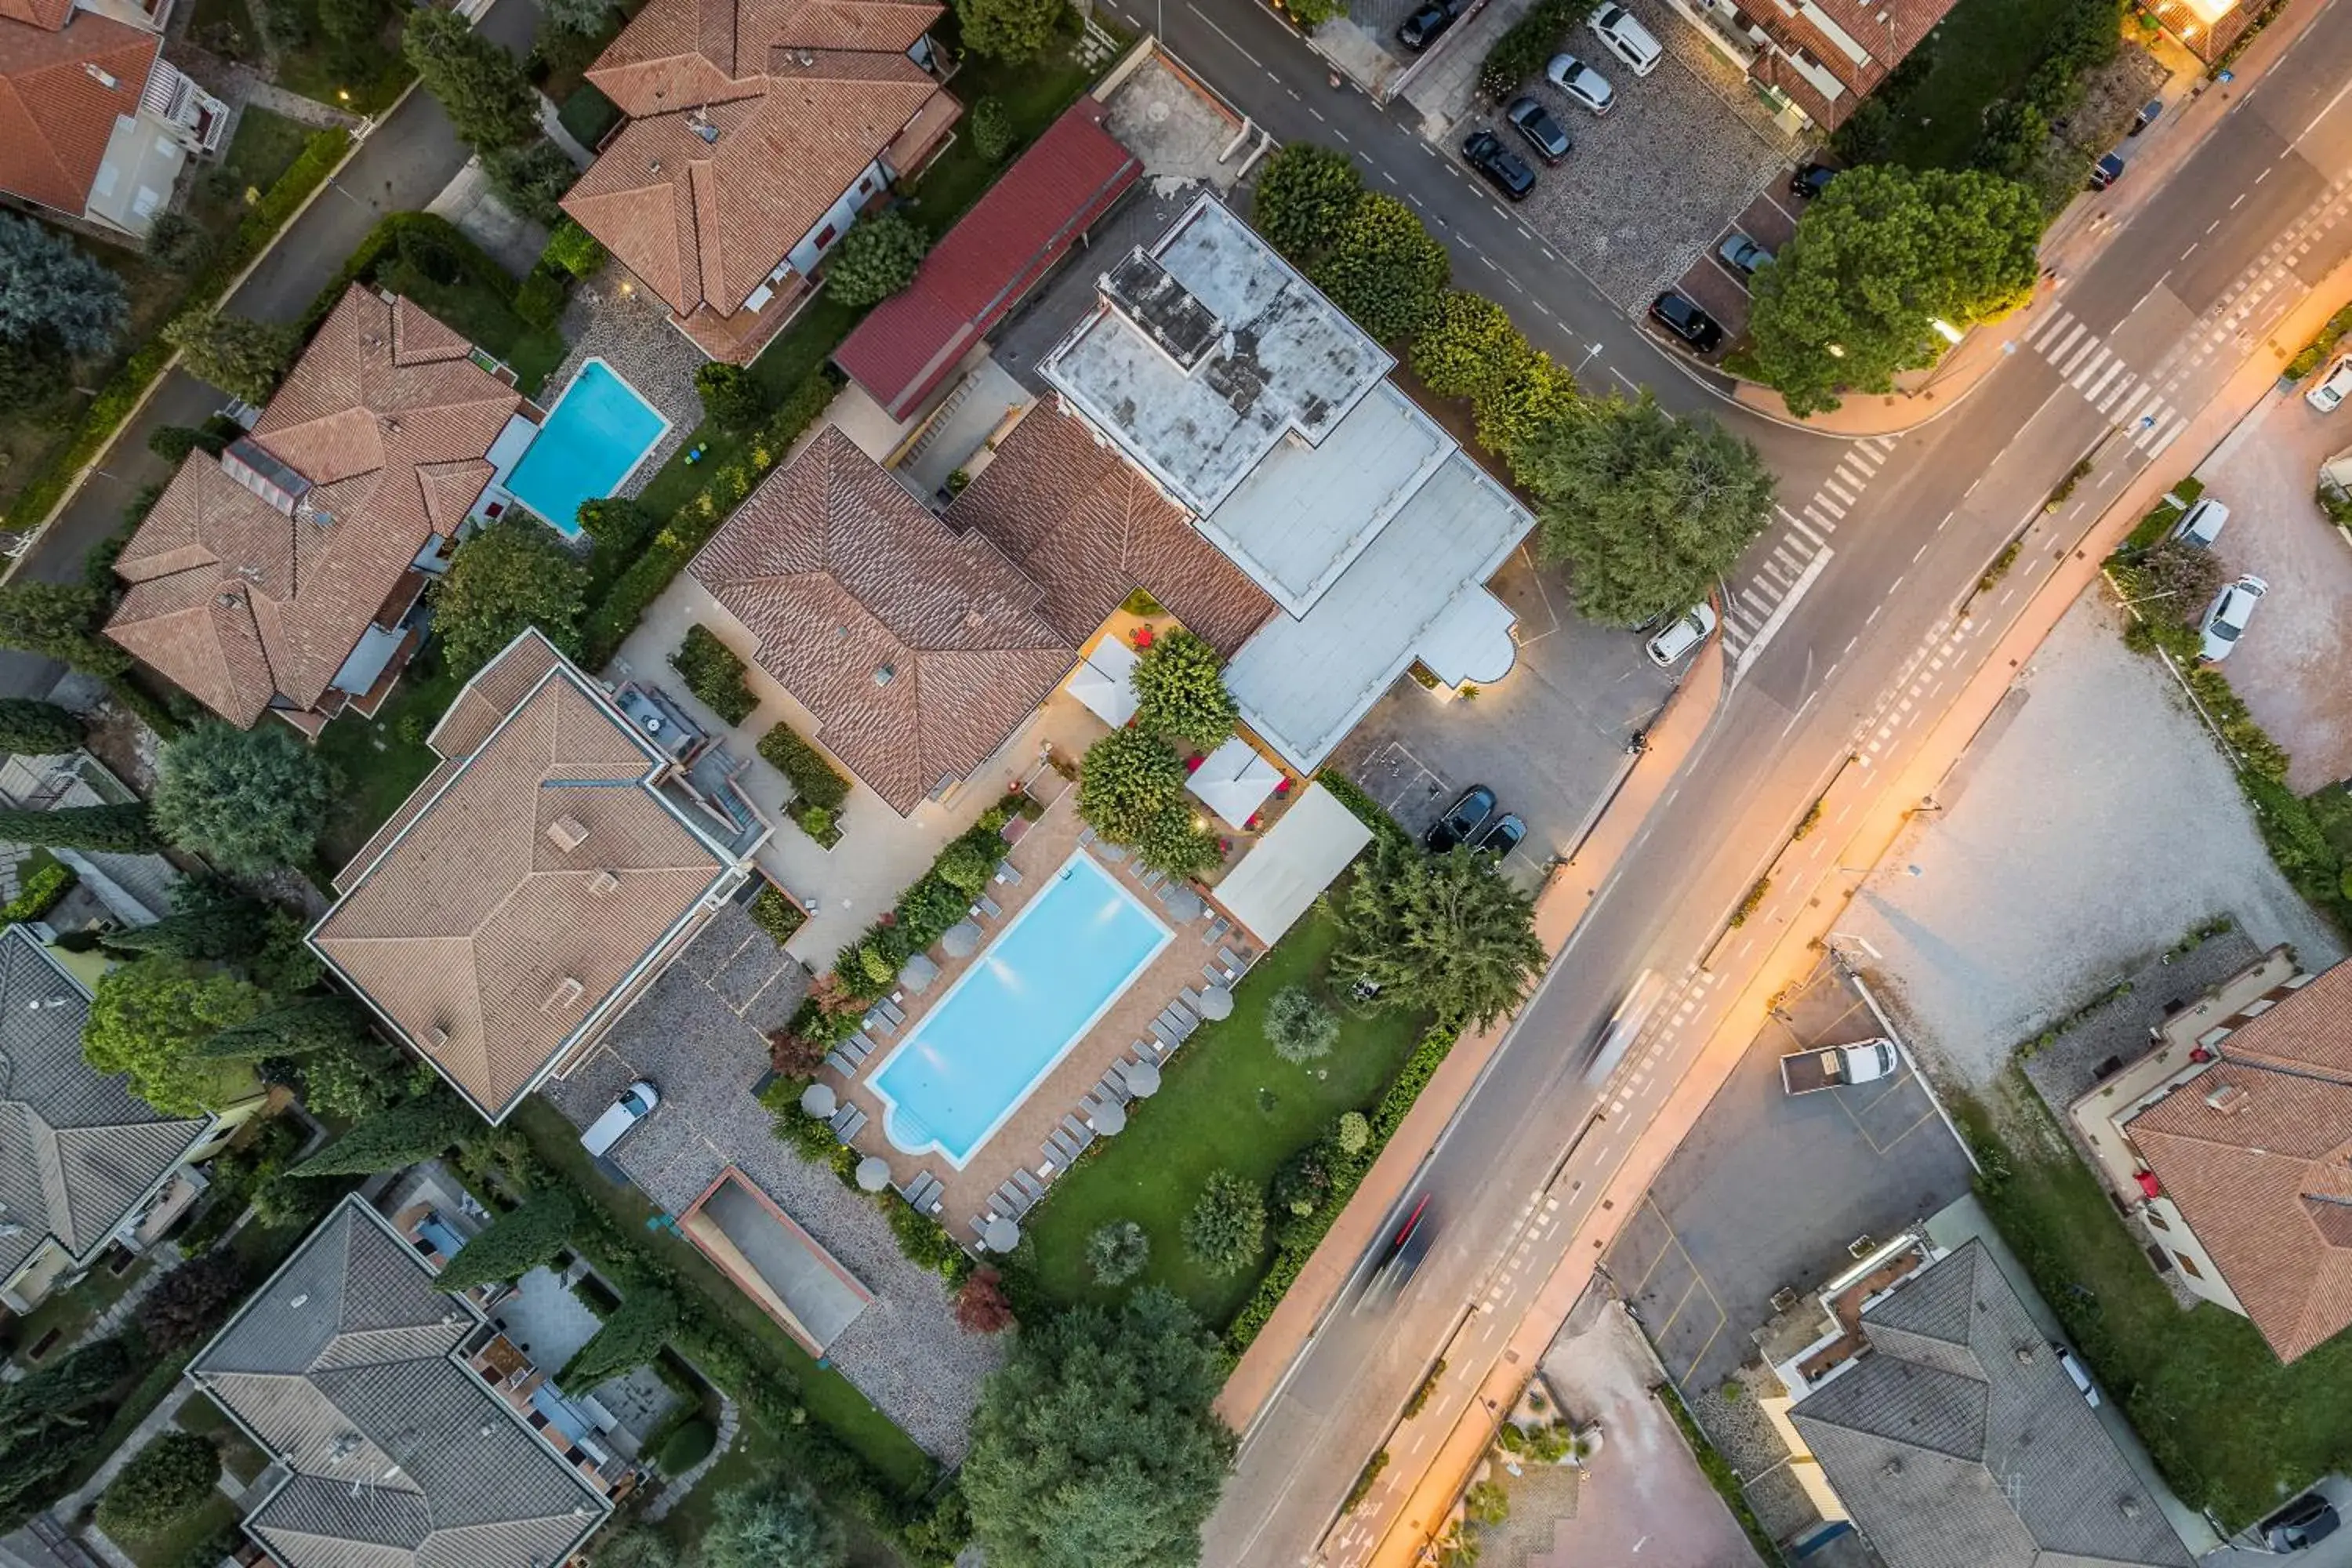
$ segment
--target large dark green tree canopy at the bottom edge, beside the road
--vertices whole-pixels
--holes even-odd
[[[1192,1312],[1136,1291],[1021,1331],[971,1420],[964,1500],[990,1568],[1164,1568],[1200,1559],[1232,1465],[1225,1368]]]

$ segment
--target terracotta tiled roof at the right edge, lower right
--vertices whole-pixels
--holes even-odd
[[[2338,964],[2232,1034],[2220,1063],[2126,1126],[2281,1361],[2352,1326],[2352,1081],[2241,1060],[2239,1039],[2260,1030],[2249,1044],[2288,1065],[2340,1058],[2347,973]]]

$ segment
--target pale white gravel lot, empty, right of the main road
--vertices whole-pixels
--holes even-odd
[[[1938,788],[1945,811],[1863,884],[1846,929],[1882,954],[1870,976],[1912,1044],[1959,1077],[1990,1084],[2023,1039],[2216,914],[2258,947],[2293,943],[2305,969],[2343,957],[2183,703],[2089,590]]]

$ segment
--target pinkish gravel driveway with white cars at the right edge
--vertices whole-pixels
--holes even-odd
[[[2352,548],[2312,501],[2319,463],[2352,447],[2352,414],[2317,414],[2310,381],[2272,393],[2197,470],[2230,503],[2220,557],[2270,583],[2230,684],[2286,748],[2310,795],[2352,778]]]

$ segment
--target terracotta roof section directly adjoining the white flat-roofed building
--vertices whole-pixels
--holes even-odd
[[[948,524],[976,529],[1028,571],[1044,588],[1044,618],[1070,642],[1091,637],[1136,588],[1228,658],[1275,614],[1181,505],[1058,400],[1014,425]]]

